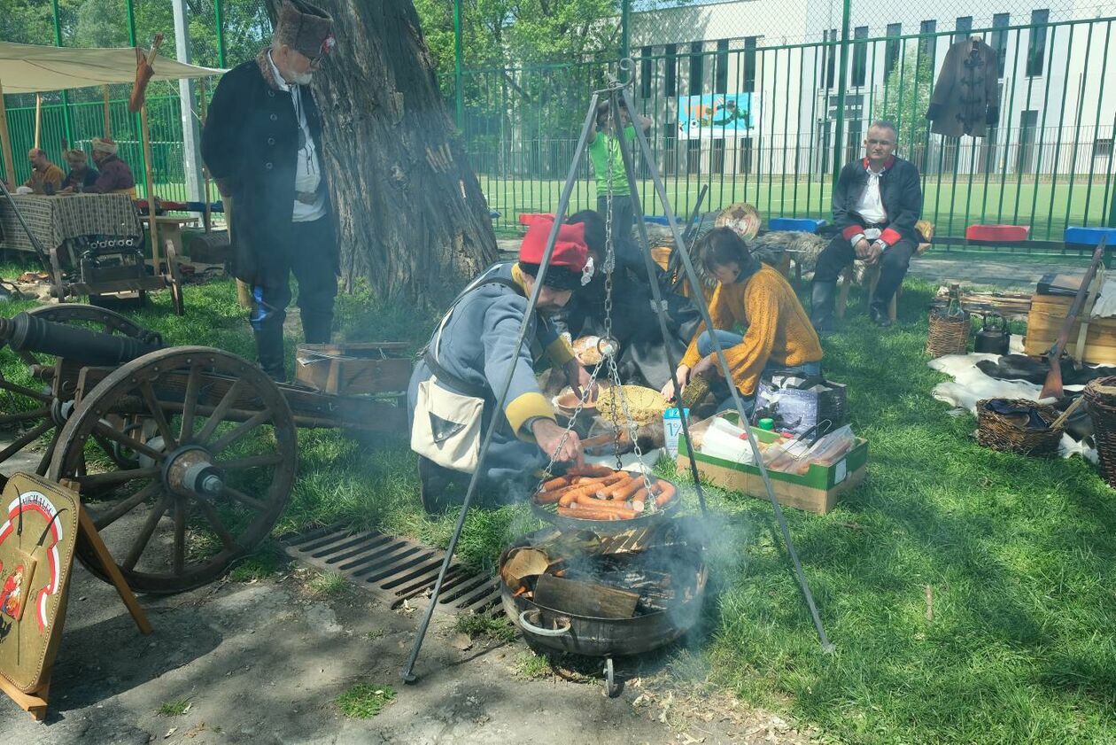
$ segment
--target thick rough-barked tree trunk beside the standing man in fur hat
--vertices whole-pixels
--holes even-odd
[[[314,76],[346,283],[427,305],[497,260],[492,221],[411,0],[314,0],[337,46]],[[267,0],[272,18],[281,0]]]

